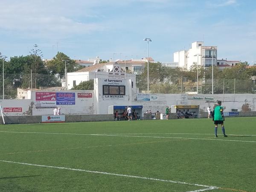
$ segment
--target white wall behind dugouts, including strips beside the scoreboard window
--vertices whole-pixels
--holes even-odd
[[[98,84],[98,79],[95,81]],[[134,95],[134,89],[129,89],[131,86],[131,80],[125,81],[125,86],[127,87],[126,95],[123,98],[115,97],[104,97],[102,95],[102,81],[99,82],[99,89],[95,92],[76,90],[76,91],[60,91],[60,92],[75,92],[76,93],[76,105],[56,105],[61,108],[61,112],[64,114],[108,114],[108,106],[111,105],[143,105],[142,112],[145,113],[147,110],[151,110],[153,113],[160,111],[165,112],[166,105],[183,105],[180,104],[181,95],[180,94],[165,94],[164,101],[135,101],[136,96]],[[78,98],[77,93],[92,93],[93,98]],[[97,96],[98,94],[98,96]],[[158,94],[156,94],[158,95]],[[163,95],[163,94],[162,94]],[[207,112],[207,106],[210,105],[212,108],[216,104],[217,100],[221,100],[222,106],[224,106],[225,111],[232,111],[236,109],[238,111],[256,111],[256,94],[222,94],[217,95],[203,95],[198,94],[195,96],[201,97],[213,97],[214,100],[208,102],[206,100],[192,100],[187,99],[186,105],[199,105],[201,112]],[[35,92],[32,93],[32,104],[33,104],[33,115],[51,115],[53,113],[53,108],[36,108],[35,103]],[[22,108],[22,112],[6,112],[7,116],[22,116],[29,115],[30,99],[5,99],[0,100],[0,104],[3,108]]]

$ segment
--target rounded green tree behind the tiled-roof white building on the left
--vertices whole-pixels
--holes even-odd
[[[76,64],[76,61],[70,59],[63,52],[58,52],[52,60],[46,62],[46,66],[49,69],[50,73],[53,75],[58,75],[60,78],[65,76],[65,61],[68,72],[74,72],[81,68],[79,64]]]

